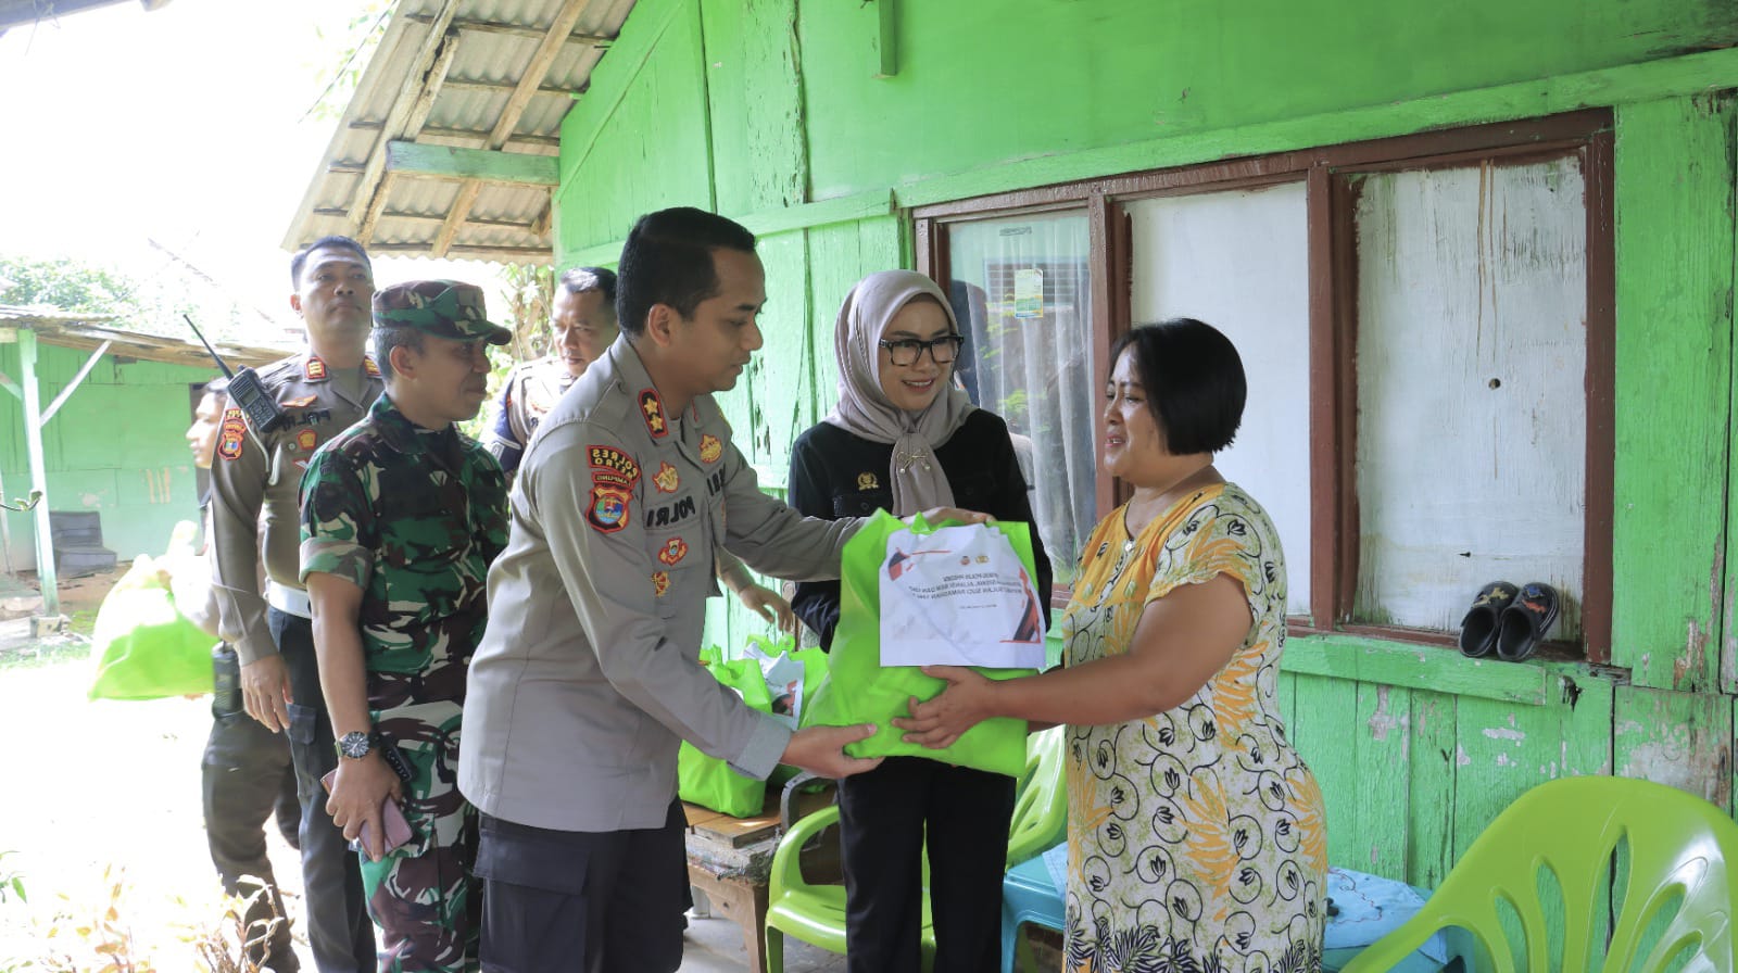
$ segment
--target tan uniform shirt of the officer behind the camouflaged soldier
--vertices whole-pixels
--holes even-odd
[[[257,565],[266,563],[271,582],[302,591],[297,488],[308,459],[327,440],[356,424],[386,387],[374,361],[365,365],[360,396],[341,389],[330,372],[313,353],[294,354],[261,368],[261,386],[289,414],[290,424],[261,436],[247,426],[242,410],[231,405],[217,433],[217,455],[212,460],[217,627],[243,665],[278,652],[266,629],[266,598],[257,580]]]

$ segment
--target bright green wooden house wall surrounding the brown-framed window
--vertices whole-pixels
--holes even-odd
[[[1291,639],[1281,688],[1337,864],[1436,884],[1561,775],[1733,806],[1738,9],[888,2],[641,0],[561,129],[561,266],[614,262],[667,205],[761,235],[766,348],[723,398],[765,486],[831,405],[846,288],[912,266],[911,207],[1611,108],[1613,665],[1317,636]],[[716,641],[758,631],[713,605]]]

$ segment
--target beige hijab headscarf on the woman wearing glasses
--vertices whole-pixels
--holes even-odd
[[[947,313],[949,327],[959,332],[954,309],[933,280],[916,271],[881,271],[862,278],[845,295],[833,342],[839,360],[839,405],[826,422],[872,443],[893,445],[888,469],[893,516],[954,504],[954,490],[935,459],[935,447],[951,440],[977,408],[952,382],[916,414],[895,407],[881,391],[881,332],[914,297],[933,297]]]

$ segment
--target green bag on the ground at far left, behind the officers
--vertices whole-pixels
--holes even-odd
[[[212,638],[176,610],[169,582],[141,554],[97,608],[90,698],[143,700],[212,692]]]

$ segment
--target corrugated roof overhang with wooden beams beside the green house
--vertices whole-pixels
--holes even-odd
[[[381,255],[547,262],[553,186],[492,169],[434,175],[389,162],[388,142],[556,156],[561,118],[633,2],[400,0],[285,247],[341,233]],[[474,172],[464,165],[478,160],[461,151],[452,165]]]

